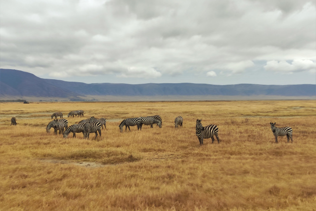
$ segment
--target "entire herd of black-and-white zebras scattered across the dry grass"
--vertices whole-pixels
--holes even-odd
[[[60,117],[60,119],[57,119],[57,116]],[[83,116],[82,110],[77,111],[71,111],[68,113],[69,116]],[[64,138],[67,138],[67,136],[72,132],[72,137],[75,137],[75,133],[81,133],[83,134],[83,138],[89,138],[89,133],[95,133],[95,138],[97,137],[97,133],[99,136],[101,136],[101,128],[106,129],[106,120],[105,118],[99,118],[96,119],[93,116],[89,119],[83,119],[79,121],[77,124],[73,124],[68,127],[68,121],[66,119],[62,119],[62,113],[56,112],[51,115],[51,119],[55,117],[54,120],[49,122],[46,126],[46,132],[49,133],[50,129],[54,129],[54,133],[57,134],[57,131],[59,131],[59,135],[62,133]],[[198,138],[199,144],[203,145],[203,139],[211,138],[212,142],[214,142],[214,136],[217,139],[217,142],[219,143],[219,137],[218,137],[218,127],[216,125],[210,124],[207,126],[202,126],[201,119],[196,120],[195,125],[195,135]],[[16,125],[16,118],[11,118],[11,124],[10,125]],[[147,116],[147,117],[135,117],[135,118],[126,118],[124,119],[119,125],[120,132],[123,132],[123,126],[125,126],[125,131],[130,131],[129,126],[137,126],[137,130],[141,130],[142,125],[150,125],[150,128],[153,127],[153,124],[156,124],[161,128],[162,126],[162,119],[159,115],[154,116]],[[174,119],[174,128],[182,127],[183,124],[183,118],[181,116],[177,116]],[[291,140],[291,143],[293,143],[292,139],[292,128],[290,127],[276,127],[275,122],[270,122],[271,131],[275,137],[275,143],[277,142],[278,136],[285,136],[287,138],[287,142],[289,142],[289,139]]]

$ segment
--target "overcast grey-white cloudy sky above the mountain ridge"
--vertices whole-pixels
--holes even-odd
[[[0,68],[84,83],[315,84],[305,0],[0,0]]]

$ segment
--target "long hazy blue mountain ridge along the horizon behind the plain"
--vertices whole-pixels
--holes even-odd
[[[111,96],[316,96],[316,85],[211,85],[192,83],[162,84],[86,84],[42,79],[31,73],[0,69],[0,97],[34,96],[79,98],[86,95]]]

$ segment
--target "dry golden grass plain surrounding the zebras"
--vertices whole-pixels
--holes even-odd
[[[57,111],[106,129],[46,133]],[[161,128],[119,132],[150,115]],[[219,144],[199,145],[196,119],[218,126]],[[276,144],[270,122],[290,126],[293,143]],[[315,126],[315,100],[0,103],[0,210],[316,210]]]

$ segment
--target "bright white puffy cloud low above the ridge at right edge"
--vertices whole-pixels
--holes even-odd
[[[267,71],[274,71],[274,72],[282,72],[282,73],[293,73],[293,72],[302,72],[302,71],[309,71],[315,72],[316,63],[311,60],[301,60],[296,59],[293,60],[291,63],[286,61],[268,61],[264,66],[264,69]]]

